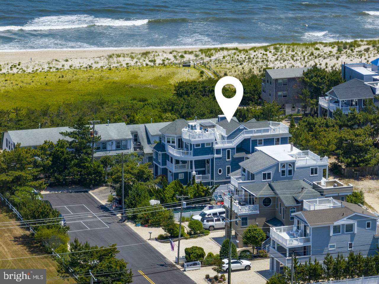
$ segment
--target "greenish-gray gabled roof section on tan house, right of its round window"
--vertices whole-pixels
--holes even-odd
[[[285,180],[280,182],[271,182],[271,188],[276,192],[276,194],[282,199],[284,206],[291,206],[298,204],[294,196],[301,198],[304,196],[311,196],[309,198],[318,198],[321,197],[321,194],[312,188],[312,185],[307,184],[303,180]],[[301,188],[303,191],[301,192]],[[297,199],[299,200],[299,199]]]

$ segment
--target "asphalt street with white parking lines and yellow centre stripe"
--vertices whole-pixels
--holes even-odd
[[[128,226],[117,223],[119,217],[100,216],[99,213],[109,210],[88,192],[49,193],[44,195],[44,199],[49,200],[66,218],[70,226],[70,240],[77,237],[79,241],[88,241],[91,245],[108,246],[116,243],[122,246],[117,248],[120,251],[117,257],[128,262],[127,267],[133,272],[133,283],[195,283]],[[81,217],[73,218],[78,215]]]

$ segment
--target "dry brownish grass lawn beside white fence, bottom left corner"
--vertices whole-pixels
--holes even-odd
[[[17,221],[12,212],[0,202],[0,222]],[[11,225],[9,227],[13,227]],[[46,252],[34,242],[28,231],[16,227],[1,229],[0,259],[43,255]],[[25,259],[0,260],[0,268],[46,269],[47,279],[60,278],[56,271],[58,263],[52,256],[30,257]],[[73,279],[49,280],[48,284],[76,283]]]

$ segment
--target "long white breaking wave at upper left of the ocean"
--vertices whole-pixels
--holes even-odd
[[[148,19],[141,20],[115,20],[110,18],[97,18],[89,15],[70,16],[47,16],[30,20],[23,26],[0,26],[0,31],[6,30],[61,30],[66,28],[83,28],[96,26],[139,26],[149,22]]]

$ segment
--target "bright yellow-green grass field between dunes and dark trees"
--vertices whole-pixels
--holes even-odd
[[[138,99],[171,96],[174,84],[200,78],[194,68],[143,66],[109,69],[73,69],[21,74],[0,74],[0,109],[92,99]]]

